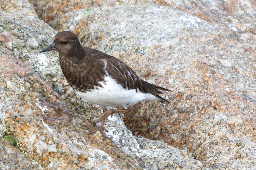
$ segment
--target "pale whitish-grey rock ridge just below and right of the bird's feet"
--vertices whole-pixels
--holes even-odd
[[[204,169],[199,160],[191,159],[186,152],[161,141],[133,136],[121,121],[122,117],[113,115],[108,118],[106,122],[108,133],[106,135],[124,153],[137,159],[139,165],[144,169]]]

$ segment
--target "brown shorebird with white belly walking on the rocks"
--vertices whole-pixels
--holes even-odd
[[[137,102],[169,103],[158,94],[171,90],[144,81],[123,61],[111,55],[82,47],[78,37],[70,31],[57,33],[53,43],[39,53],[52,50],[59,53],[61,70],[75,92],[86,102],[103,108],[102,115],[95,121],[101,122],[100,126],[87,126],[91,133],[100,131],[104,136],[107,131],[105,119],[113,113],[129,113]],[[107,109],[107,106],[117,109]]]

